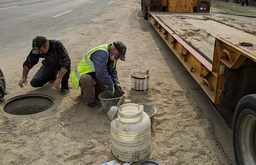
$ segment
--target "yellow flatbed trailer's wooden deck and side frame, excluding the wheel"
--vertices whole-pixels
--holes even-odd
[[[166,44],[212,102],[220,104],[225,68],[255,67],[256,63],[250,63],[256,61],[255,47],[241,46],[239,43],[250,42],[256,45],[256,36],[239,27],[233,28],[216,22],[212,17],[218,16],[149,12],[149,21]],[[225,18],[223,22],[226,22]]]

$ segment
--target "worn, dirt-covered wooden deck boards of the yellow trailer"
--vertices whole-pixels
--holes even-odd
[[[253,38],[256,27],[209,13],[150,12],[182,40],[212,63],[215,37]],[[251,34],[249,34],[251,33]]]

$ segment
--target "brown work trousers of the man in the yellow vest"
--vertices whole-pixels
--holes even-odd
[[[81,92],[84,93],[83,98],[87,104],[94,102],[95,94],[99,95],[101,92],[108,90],[107,86],[103,85],[89,74],[81,76],[79,86],[81,87]]]

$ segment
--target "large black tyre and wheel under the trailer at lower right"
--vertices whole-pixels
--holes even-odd
[[[256,164],[256,94],[243,97],[236,107],[233,148],[236,164]]]

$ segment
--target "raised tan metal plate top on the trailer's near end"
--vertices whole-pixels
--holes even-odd
[[[219,38],[220,40],[226,42],[245,54],[246,57],[252,59],[256,62],[256,36],[244,36],[244,37],[233,37],[233,38]],[[242,46],[239,43],[248,42],[253,44],[253,46]]]

